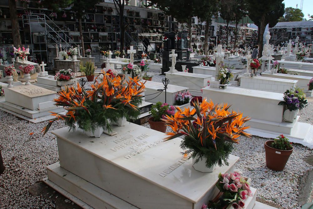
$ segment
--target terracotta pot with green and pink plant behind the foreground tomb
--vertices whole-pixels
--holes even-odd
[[[152,105],[151,112],[149,112],[152,117],[148,118],[150,128],[165,133],[166,125],[162,119],[165,119],[165,115],[174,115],[174,109],[174,106],[162,102],[156,102],[155,105]]]

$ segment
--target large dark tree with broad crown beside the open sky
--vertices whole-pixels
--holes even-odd
[[[263,53],[263,35],[266,25],[274,27],[284,14],[285,4],[282,2],[283,0],[246,0],[249,18],[258,26],[259,57]]]

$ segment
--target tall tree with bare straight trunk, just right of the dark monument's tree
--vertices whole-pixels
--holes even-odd
[[[219,0],[211,0],[211,1],[206,1],[207,5],[203,5],[203,8],[205,9],[200,9],[197,12],[197,17],[200,20],[205,20],[205,30],[204,30],[204,46],[203,50],[205,55],[208,55],[208,36],[209,36],[209,29],[210,25],[212,22],[212,16],[214,15],[217,17],[218,15],[218,9],[220,8]]]

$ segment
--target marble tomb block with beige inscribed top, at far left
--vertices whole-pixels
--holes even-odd
[[[4,87],[4,93],[6,102],[30,110],[37,110],[39,109],[39,103],[52,101],[55,98],[54,91],[34,85],[22,85],[13,88]]]

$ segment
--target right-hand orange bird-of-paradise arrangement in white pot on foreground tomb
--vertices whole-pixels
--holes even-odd
[[[190,154],[193,167],[201,172],[213,172],[215,165],[229,165],[227,159],[233,150],[232,143],[239,143],[240,135],[250,137],[244,123],[250,118],[243,113],[230,111],[230,105],[207,102],[194,102],[194,108],[178,111],[175,116],[166,116],[162,121],[173,129],[167,140],[185,136],[180,144],[185,154]],[[190,158],[189,157],[189,158]]]

